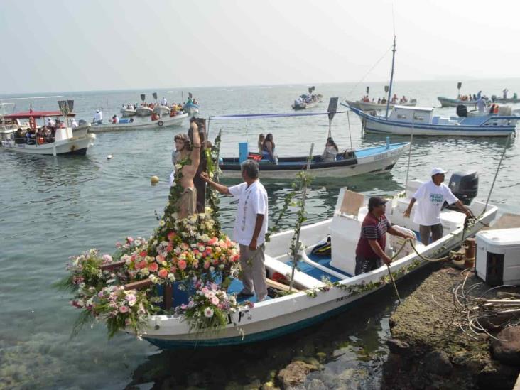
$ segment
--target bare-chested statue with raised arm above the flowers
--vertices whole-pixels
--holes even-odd
[[[193,183],[193,178],[195,178],[200,164],[200,136],[195,121],[190,124],[190,132],[193,137],[191,150],[183,148],[180,151],[180,161],[189,158],[190,163],[185,164],[178,172],[178,175],[181,175],[180,185],[183,187],[183,193],[178,200],[179,219],[189,217],[197,211],[197,189]]]

